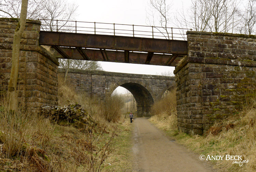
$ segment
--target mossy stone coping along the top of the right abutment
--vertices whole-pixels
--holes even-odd
[[[238,34],[238,33],[224,33],[224,32],[187,31],[186,34],[216,35],[216,36],[233,36],[233,37],[256,38],[256,35],[246,35],[246,34]]]

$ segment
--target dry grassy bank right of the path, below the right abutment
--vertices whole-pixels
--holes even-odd
[[[171,98],[169,98],[171,100]],[[157,108],[157,107],[155,107]],[[173,106],[173,108],[176,108]],[[174,110],[173,110],[174,111]],[[169,113],[170,114],[170,113]],[[245,106],[239,114],[215,122],[203,136],[191,136],[177,130],[177,116],[165,111],[149,119],[159,129],[199,155],[241,155],[248,163],[233,164],[231,160],[211,160],[216,171],[256,171],[256,103]],[[199,156],[198,156],[199,158]]]

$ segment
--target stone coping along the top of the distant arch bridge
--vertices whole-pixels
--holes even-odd
[[[64,73],[64,68],[58,69],[59,73]],[[126,74],[126,73],[117,73],[117,72],[106,72],[106,71],[89,71],[89,70],[81,70],[81,69],[69,69],[69,73],[77,73],[77,74],[94,74],[94,75],[107,75],[107,76],[120,76],[120,77],[139,77],[139,78],[151,78],[151,79],[167,79],[167,80],[175,80],[174,76],[158,76],[158,75],[143,75],[143,74]]]

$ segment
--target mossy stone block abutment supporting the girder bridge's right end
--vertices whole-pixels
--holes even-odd
[[[188,31],[187,40],[188,56],[174,71],[178,127],[203,134],[255,94],[256,36]]]

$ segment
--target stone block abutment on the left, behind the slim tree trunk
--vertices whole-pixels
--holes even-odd
[[[0,90],[6,90],[11,73],[12,43],[18,24],[15,18],[0,18]],[[39,45],[41,22],[27,20],[20,45],[19,100],[30,108],[57,104],[58,60]]]

